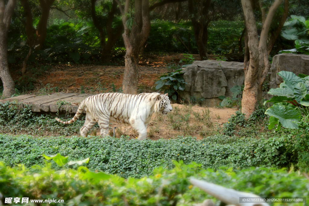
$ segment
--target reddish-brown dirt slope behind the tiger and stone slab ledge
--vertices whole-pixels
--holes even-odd
[[[200,58],[197,54],[193,54],[193,56],[196,60]],[[139,89],[142,92],[154,91],[155,82],[168,71],[168,64],[178,64],[183,58],[183,54],[180,53],[166,56],[142,55],[139,61]],[[215,59],[214,55],[209,55],[209,58]],[[38,92],[44,85],[48,85],[47,89],[58,87],[59,91],[67,93],[85,92],[97,94],[112,89],[118,90],[122,86],[124,69],[124,62],[118,62],[118,66],[76,64],[52,66],[44,71],[42,75],[36,77],[35,90],[26,93]],[[11,74],[14,80],[21,78],[19,70],[21,71],[21,67]],[[28,69],[25,75],[32,77],[33,74]],[[104,90],[100,90],[101,88],[104,88]]]

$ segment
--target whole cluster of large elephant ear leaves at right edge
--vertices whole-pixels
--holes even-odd
[[[272,129],[276,124],[278,124],[276,130],[279,130],[281,125],[290,129],[304,128],[301,126],[303,124],[301,119],[302,114],[309,115],[307,110],[307,106],[309,106],[309,78],[304,74],[300,74],[298,77],[294,73],[286,71],[281,71],[278,74],[284,81],[280,84],[280,88],[270,89],[268,92],[277,96],[264,102],[264,105],[268,102],[274,103],[265,111],[265,114],[271,116],[268,128]]]

